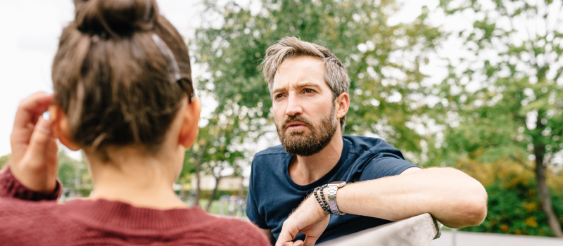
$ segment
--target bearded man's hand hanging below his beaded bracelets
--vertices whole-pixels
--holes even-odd
[[[315,200],[314,195],[309,195],[301,205],[286,219],[276,246],[312,246],[329,225],[329,214]],[[299,233],[307,235],[305,242],[297,240],[291,242]]]

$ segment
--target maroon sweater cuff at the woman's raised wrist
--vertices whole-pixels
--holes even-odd
[[[1,198],[18,198],[21,200],[40,201],[40,200],[57,200],[61,195],[61,182],[57,181],[55,190],[51,193],[42,193],[30,190],[23,186],[18,179],[12,174],[10,167],[0,173],[0,197]]]

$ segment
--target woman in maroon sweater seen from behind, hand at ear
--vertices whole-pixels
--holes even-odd
[[[187,208],[172,190],[200,101],[186,45],[156,2],[75,8],[53,62],[55,93],[33,94],[15,115],[0,174],[0,245],[269,245],[251,224]],[[84,151],[88,200],[56,204],[56,139]]]

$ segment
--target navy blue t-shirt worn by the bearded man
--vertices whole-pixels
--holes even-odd
[[[342,155],[339,162],[321,179],[300,186],[289,176],[289,161],[293,155],[281,145],[262,150],[254,156],[246,215],[254,224],[271,229],[277,239],[287,216],[296,209],[312,190],[333,181],[366,181],[395,176],[410,167],[403,154],[379,138],[343,136]],[[331,215],[329,226],[317,242],[348,235],[367,228],[387,224],[388,220],[346,214]],[[304,240],[305,235],[297,239]]]

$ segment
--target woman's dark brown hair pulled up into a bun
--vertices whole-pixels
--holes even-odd
[[[187,46],[155,0],[75,0],[53,61],[55,101],[70,137],[108,160],[108,146],[156,152],[184,96],[194,88]],[[179,67],[153,40],[158,35]],[[167,61],[168,59],[168,61]]]

